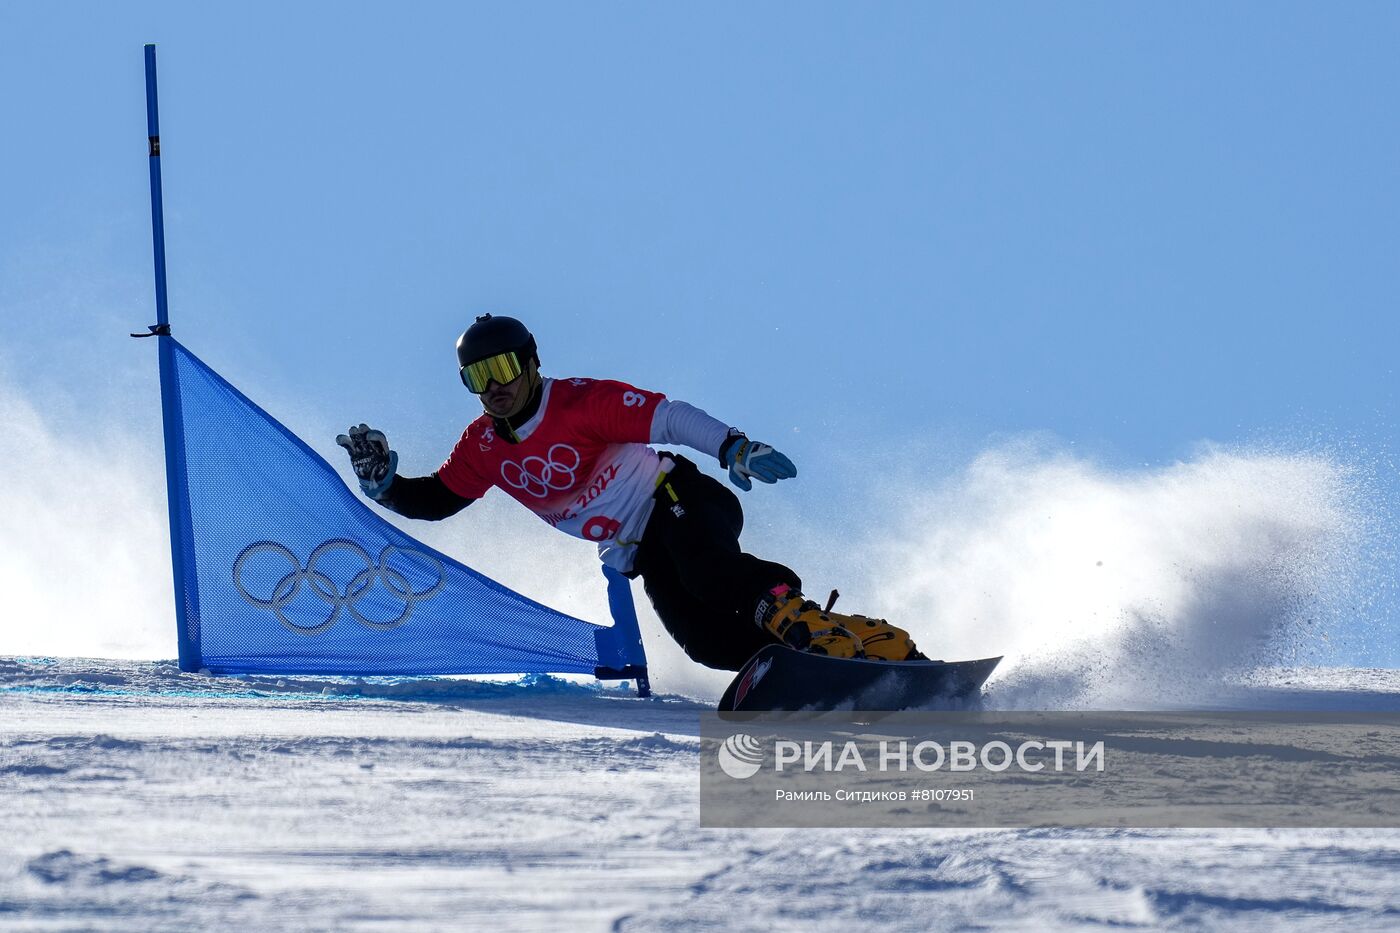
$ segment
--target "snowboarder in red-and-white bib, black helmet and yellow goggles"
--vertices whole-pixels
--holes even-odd
[[[476,318],[456,342],[462,382],[484,413],[428,476],[399,476],[382,431],[351,427],[364,495],[409,518],[441,520],[491,486],[554,528],[598,544],[603,563],[641,577],[671,636],[700,664],[736,671],[774,642],[834,657],[923,660],[909,633],[882,619],[830,612],[802,595],[798,576],[739,548],[738,497],[685,457],[718,457],[729,482],[797,475],[769,444],[706,412],[626,382],[549,378],[533,335],[514,318]]]

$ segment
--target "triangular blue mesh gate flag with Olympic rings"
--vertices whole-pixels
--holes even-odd
[[[622,577],[612,628],[503,587],[391,525],[172,336],[157,339],[182,668],[644,677]]]

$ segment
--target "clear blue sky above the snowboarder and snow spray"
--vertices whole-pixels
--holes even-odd
[[[1393,503],[1397,39],[1383,3],[7,3],[0,364],[144,417],[155,42],[176,333],[417,469],[490,310],[812,495],[1036,433],[1331,451]]]

